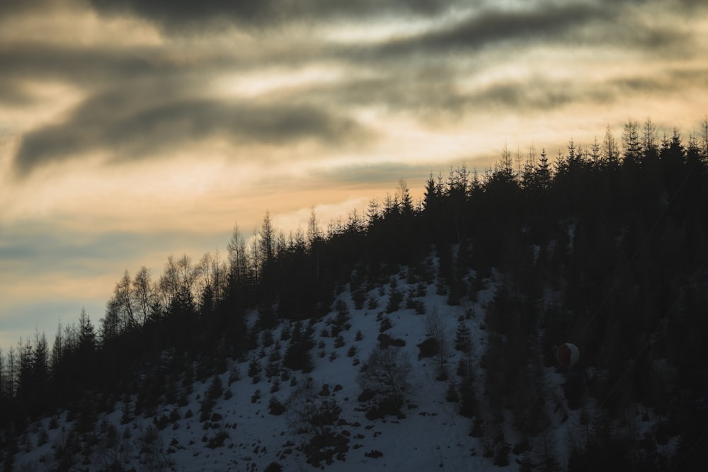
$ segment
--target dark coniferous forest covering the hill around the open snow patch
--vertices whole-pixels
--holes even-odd
[[[400,274],[421,290],[396,289]],[[446,306],[426,306],[428,286]],[[53,340],[34,333],[1,351],[0,464],[13,470],[28,428],[63,412],[71,426],[52,467],[83,470],[76,458],[98,444],[102,413],[130,405],[127,423],[185,405],[193,382],[219,379],[234,359],[249,362],[254,384],[308,374],[324,335],[314,323],[336,313],[326,334],[338,339],[353,322],[343,293],[354,309],[385,312],[382,333],[393,313],[428,316],[421,355],[439,356],[440,401],[457,405],[489,464],[695,470],[708,444],[708,121],[688,137],[660,136],[648,119],[557,154],[504,149],[484,173],[430,175],[418,201],[401,180],[395,195],[326,227],[313,211],[305,231],[286,235],[266,213],[253,238],[234,228],[223,254],[126,271],[103,316],[82,312]],[[438,309],[459,313],[454,339],[436,330]],[[470,345],[473,318],[484,347]],[[274,343],[282,357],[270,356]],[[572,367],[556,361],[562,343],[578,347]],[[368,372],[379,357],[362,358]],[[561,379],[555,393],[549,372]],[[360,379],[376,390],[375,377]],[[402,395],[367,418],[400,418]],[[566,454],[543,447],[564,421],[554,414],[579,419]],[[105,470],[130,470],[115,464]]]

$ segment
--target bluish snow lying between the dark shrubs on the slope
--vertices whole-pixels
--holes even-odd
[[[406,280],[401,277],[397,280],[398,289],[404,293],[414,285],[406,283]],[[493,296],[493,284],[488,284],[488,287],[477,294],[474,316],[466,320],[467,326],[471,330],[472,359],[476,376],[479,379],[483,376],[483,371],[479,367],[479,359],[484,355],[486,349],[484,306]],[[348,357],[347,352],[351,346],[355,346],[356,357],[363,362],[370,350],[377,345],[377,336],[379,335],[377,314],[385,311],[390,291],[390,284],[387,284],[384,286],[384,295],[379,294],[379,289],[373,289],[367,294],[367,297],[373,296],[378,299],[379,308],[373,311],[367,310],[366,304],[363,309],[355,309],[348,289],[339,294],[337,299],[343,301],[350,311],[351,328],[341,332],[345,345],[335,348],[333,345],[335,338],[320,337],[321,330],[326,326],[326,319],[329,316],[322,318],[315,325],[315,347],[312,350],[314,370],[309,374],[294,373],[299,382],[304,382],[308,377],[312,377],[316,384],[329,384],[331,392],[337,385],[342,387],[332,395],[341,405],[340,418],[346,420],[346,425],[336,429],[349,434],[349,450],[344,461],[334,460],[332,464],[324,465],[322,468],[327,471],[342,472],[362,470],[410,472],[515,470],[518,466],[514,459],[518,456],[511,454],[510,466],[506,468],[493,466],[492,459],[482,456],[484,449],[481,442],[479,439],[469,436],[472,421],[457,414],[456,403],[445,401],[447,382],[435,379],[435,360],[430,358],[418,360],[416,345],[426,339],[426,316],[418,315],[412,309],[401,309],[388,315],[393,327],[387,330],[392,338],[405,340],[406,345],[400,349],[407,353],[413,366],[409,379],[411,388],[406,398],[406,405],[402,410],[405,418],[399,419],[389,416],[383,420],[374,421],[365,418],[365,412],[362,411],[357,400],[360,388],[356,378],[360,366],[353,366],[355,357]],[[463,315],[464,311],[460,306],[448,306],[445,298],[445,296],[435,294],[435,283],[433,282],[428,285],[426,296],[422,299],[428,313],[433,307],[438,307],[449,344],[450,375],[454,376],[455,365],[461,354],[452,348],[452,344],[455,339],[457,318]],[[335,311],[330,314],[332,317],[335,315]],[[251,316],[251,322],[254,317],[255,315]],[[360,341],[355,340],[358,330],[363,334]],[[273,334],[275,340],[280,338],[280,326],[274,330]],[[317,344],[320,339],[325,343],[326,355],[324,357],[318,355]],[[281,345],[282,352],[285,352],[287,343],[281,342]],[[333,360],[330,359],[331,352],[337,354]],[[267,359],[262,359],[263,368],[265,368],[266,361]],[[229,370],[232,367],[239,368],[241,379],[229,386]],[[199,421],[200,401],[204,398],[211,379],[195,382],[188,405],[183,407],[163,405],[158,408],[156,413],[158,417],[163,413],[169,416],[175,408],[178,408],[181,417],[178,421],[169,423],[163,430],[156,431],[158,439],[155,444],[158,446],[161,444],[164,450],[163,458],[169,459],[172,464],[165,470],[263,471],[271,462],[278,462],[284,471],[314,470],[312,465],[307,464],[302,451],[297,450],[297,447],[306,438],[301,434],[294,434],[290,430],[285,415],[271,415],[268,412],[268,401],[271,396],[276,396],[280,401],[285,402],[290,395],[292,391],[290,381],[282,381],[280,391],[270,393],[271,384],[265,375],[262,376],[261,381],[253,384],[246,372],[248,372],[247,361],[239,363],[232,360],[229,362],[229,369],[220,374],[224,391],[230,390],[233,395],[229,399],[224,396],[217,399],[213,412],[222,415],[222,419],[217,422],[218,427],[216,428],[205,430],[205,423]],[[547,376],[549,376],[549,388],[555,388],[558,391],[562,387],[561,374],[549,369]],[[253,403],[251,398],[257,389],[261,391],[261,398]],[[155,430],[153,417],[144,418],[141,415],[127,425],[120,425],[121,410],[122,401],[118,401],[115,404],[115,410],[112,413],[99,415],[97,422],[98,425],[105,420],[115,426],[118,431],[118,445],[113,449],[106,450],[104,448],[103,451],[100,450],[100,447],[94,447],[92,454],[87,459],[87,464],[79,464],[80,468],[101,470],[116,454],[120,454],[126,469],[135,467],[136,470],[144,470],[146,468],[145,464],[141,464],[141,460],[146,460],[146,454],[141,454],[141,450],[144,448],[143,438],[146,433]],[[186,418],[188,411],[193,413],[190,418]],[[557,427],[554,431],[556,444],[566,444],[569,428],[577,424],[576,417],[579,412],[570,412],[570,414],[575,417],[571,416],[569,421],[562,422],[560,418],[562,414],[556,412]],[[62,413],[57,419],[58,427],[50,429],[49,423],[50,418],[44,418],[30,426],[27,444],[16,455],[16,468],[19,470],[52,470],[55,464],[55,459],[53,459],[55,450],[52,447],[55,444],[61,444],[71,427],[71,422],[68,422],[66,414]],[[509,431],[508,442],[514,444],[518,438],[514,437],[510,427],[506,429]],[[47,433],[47,442],[39,446],[38,438],[41,431]],[[219,432],[228,434],[224,444],[214,449],[208,448],[202,439],[215,437]],[[366,456],[365,454],[370,451],[380,451],[382,456],[379,458]],[[556,450],[556,453],[563,459],[567,458],[568,451],[561,448]],[[153,456],[159,456],[159,454],[153,454]],[[154,468],[159,469],[159,464]]]

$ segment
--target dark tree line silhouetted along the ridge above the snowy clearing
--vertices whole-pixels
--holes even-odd
[[[329,313],[347,284],[363,303],[361,294],[401,265],[426,272],[433,251],[450,305],[474,304],[498,282],[486,306],[484,382],[458,369],[460,409],[476,418],[474,434],[504,444],[493,425],[505,410],[522,434],[542,431],[548,418],[528,413],[544,398],[539,367],[554,364],[554,345],[572,341],[584,364],[564,387],[570,408],[599,405],[593,412],[617,418],[648,405],[660,432],[681,435],[680,455],[708,419],[690,410],[708,391],[700,360],[708,354],[707,202],[708,120],[684,140],[677,129],[660,138],[647,119],[627,122],[620,139],[608,127],[589,146],[571,140],[554,159],[534,146],[505,147],[484,173],[462,165],[431,174],[420,202],[401,180],[394,195],[326,229],[313,211],[306,231],[285,236],[266,213],[249,239],[234,227],[224,258],[171,256],[157,277],[147,267],[126,271],[97,323],[82,311],[78,324],[59,326],[51,348],[35,333],[1,352],[3,437],[56,408],[95,410],[144,391],[137,372],[166,351],[179,353],[166,375],[197,363],[205,378],[279,321],[304,326]],[[246,323],[251,309],[255,326]],[[307,359],[292,362],[302,369]],[[675,395],[687,403],[672,403]],[[601,447],[600,420],[593,425],[598,434],[573,451],[577,464],[614,452]]]

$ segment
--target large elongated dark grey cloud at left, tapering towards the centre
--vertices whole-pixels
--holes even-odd
[[[159,96],[158,96],[159,97]],[[15,166],[24,174],[52,161],[110,150],[121,160],[145,159],[220,137],[234,143],[292,144],[312,140],[341,146],[372,132],[332,110],[299,103],[252,103],[213,98],[110,91],[84,101],[61,124],[25,133]]]

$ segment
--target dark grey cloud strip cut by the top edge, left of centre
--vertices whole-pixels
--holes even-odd
[[[272,25],[321,18],[367,18],[437,13],[455,0],[90,0],[97,11],[145,18],[167,30],[202,29],[214,23]]]

